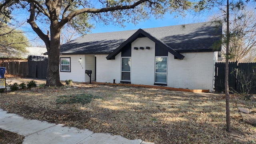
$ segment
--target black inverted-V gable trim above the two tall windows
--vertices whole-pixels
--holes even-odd
[[[142,29],[137,30],[132,36],[130,36],[130,38],[128,38],[124,43],[122,43],[118,48],[116,48],[111,54],[109,54],[106,58],[108,60],[112,60],[115,59],[115,56],[117,54],[119,54],[122,51],[122,48],[124,48],[127,44],[132,43],[134,40],[136,40],[137,38],[141,38],[141,37],[147,37],[150,40],[152,40],[153,42],[155,42],[156,44],[160,45],[161,48],[164,48],[166,50],[168,50],[168,52],[170,52],[171,54],[173,54],[174,56],[176,56],[179,59],[183,59],[184,56],[182,54],[179,54],[178,52],[176,52],[175,50],[173,50],[170,46],[168,46],[167,44],[165,44],[162,40],[160,40],[159,38],[156,38],[154,36],[152,36],[151,34],[149,34],[148,32],[145,32]]]

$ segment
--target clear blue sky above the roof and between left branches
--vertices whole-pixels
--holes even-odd
[[[29,13],[24,10],[16,10],[14,12],[17,18],[20,20],[27,20],[29,17]],[[138,24],[134,25],[132,23],[126,23],[124,24],[125,27],[120,26],[114,26],[112,24],[110,25],[104,25],[102,23],[100,24],[94,24],[95,28],[91,30],[90,33],[99,33],[99,32],[114,32],[114,31],[123,31],[123,30],[137,30],[139,28],[154,28],[154,27],[162,27],[162,26],[173,26],[173,25],[180,25],[180,24],[190,24],[190,23],[196,23],[196,22],[206,22],[209,21],[209,16],[212,15],[213,12],[204,12],[203,14],[198,13],[187,13],[186,16],[183,18],[182,16],[178,16],[177,18],[174,18],[174,15],[172,14],[165,14],[163,18],[156,19],[152,16],[149,20],[141,21]],[[40,26],[40,25],[39,25]],[[23,31],[25,31],[25,35],[28,37],[28,39],[32,40],[35,37],[37,37],[37,34],[32,30],[31,26],[28,23],[24,23],[22,28]],[[40,26],[40,29],[46,34],[47,30],[49,28],[44,28]],[[38,40],[33,40],[32,42],[33,46],[45,46],[44,42],[38,38]]]

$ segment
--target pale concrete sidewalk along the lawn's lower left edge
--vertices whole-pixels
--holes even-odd
[[[128,140],[122,136],[30,120],[2,109],[0,128],[25,136],[23,144],[153,144],[139,139]]]

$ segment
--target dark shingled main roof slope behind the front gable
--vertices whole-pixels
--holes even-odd
[[[145,28],[144,32],[160,40],[174,52],[220,51],[222,25],[212,22]],[[137,30],[86,34],[60,46],[60,54],[110,54]],[[218,45],[218,47],[216,46]]]

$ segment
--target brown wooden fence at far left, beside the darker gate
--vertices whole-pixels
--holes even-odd
[[[7,74],[28,77],[28,62],[2,62]]]

